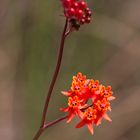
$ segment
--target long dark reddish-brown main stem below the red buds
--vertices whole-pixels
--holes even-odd
[[[59,70],[60,70],[60,66],[61,66],[65,38],[71,32],[71,30],[69,30],[67,32],[67,27],[68,27],[68,20],[66,19],[64,30],[63,30],[63,33],[62,33],[62,36],[61,36],[61,43],[60,43],[59,54],[58,54],[58,58],[57,58],[57,64],[56,64],[56,67],[55,67],[54,75],[53,75],[51,84],[49,86],[48,94],[47,94],[47,97],[46,97],[46,100],[45,100],[45,104],[44,104],[44,109],[43,109],[43,113],[42,113],[42,120],[41,120],[40,129],[36,133],[36,135],[33,138],[33,140],[38,140],[38,138],[40,137],[40,135],[44,131],[44,126],[45,126],[45,128],[47,128],[47,127],[53,125],[53,124],[50,125],[50,123],[45,125],[45,120],[46,120],[46,116],[47,116],[47,110],[48,110],[49,101],[50,101],[50,98],[51,98],[51,95],[52,95],[52,91],[53,91],[53,88],[54,88],[54,85],[55,85],[55,82],[56,82],[56,79],[57,79],[57,76],[58,76],[58,73],[59,73]]]

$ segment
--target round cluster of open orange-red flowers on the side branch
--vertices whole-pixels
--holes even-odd
[[[115,99],[111,86],[105,87],[99,84],[98,80],[87,79],[79,72],[77,76],[73,76],[71,89],[63,91],[62,94],[68,97],[68,106],[60,109],[68,112],[67,122],[69,123],[74,116],[81,119],[76,128],[87,125],[93,134],[93,124],[98,126],[103,118],[111,122],[106,113],[107,110],[111,111],[109,101]]]

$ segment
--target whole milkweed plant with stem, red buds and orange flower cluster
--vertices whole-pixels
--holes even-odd
[[[111,86],[104,86],[98,80],[88,79],[81,72],[73,76],[70,89],[62,91],[62,94],[68,98],[68,102],[67,107],[60,108],[60,110],[67,114],[54,121],[47,122],[48,105],[59,74],[65,39],[70,33],[78,31],[82,25],[89,24],[92,16],[92,12],[84,0],[60,0],[60,3],[63,7],[65,25],[61,35],[54,75],[44,103],[41,124],[33,140],[38,140],[48,127],[65,119],[69,123],[75,116],[79,118],[79,122],[75,127],[87,126],[91,134],[94,133],[93,125],[100,125],[103,118],[111,122],[110,117],[107,115],[107,111],[111,111],[110,101],[115,99],[112,96]]]

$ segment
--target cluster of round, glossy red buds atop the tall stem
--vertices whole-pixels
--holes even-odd
[[[84,0],[61,0],[64,7],[64,14],[72,27],[79,29],[80,25],[90,23],[91,10]]]

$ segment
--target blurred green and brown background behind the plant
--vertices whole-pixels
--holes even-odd
[[[112,85],[111,124],[91,136],[86,127],[65,121],[40,140],[140,139],[140,1],[88,0],[92,22],[66,40],[64,59],[49,105],[48,120],[64,113],[60,91],[81,71]],[[0,139],[31,140],[54,71],[64,17],[58,0],[0,1]]]

